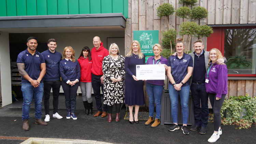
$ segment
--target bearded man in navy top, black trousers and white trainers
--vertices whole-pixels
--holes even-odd
[[[59,62],[62,59],[60,52],[55,51],[57,42],[55,39],[48,40],[48,47],[46,51],[42,52],[46,64],[46,73],[44,75],[44,121],[50,121],[49,115],[49,98],[51,89],[53,89],[53,117],[61,119],[62,116],[58,114],[59,104],[59,90],[60,90],[60,73]]]

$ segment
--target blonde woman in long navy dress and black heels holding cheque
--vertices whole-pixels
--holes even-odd
[[[145,104],[143,85],[144,81],[136,78],[136,65],[145,64],[145,55],[141,53],[140,43],[132,41],[130,51],[125,57],[125,104],[129,106],[130,124],[139,124],[138,112],[140,105]],[[132,115],[133,105],[135,106],[134,120]]]

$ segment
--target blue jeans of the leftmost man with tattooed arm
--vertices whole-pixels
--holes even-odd
[[[35,118],[42,118],[42,99],[44,94],[43,83],[40,83],[38,87],[33,87],[31,83],[22,83],[23,93],[23,107],[22,107],[22,120],[29,119],[30,104],[34,96],[35,103]]]

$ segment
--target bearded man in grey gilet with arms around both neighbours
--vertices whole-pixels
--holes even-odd
[[[190,77],[190,90],[194,102],[196,125],[192,126],[189,130],[195,131],[200,128],[199,133],[205,134],[209,117],[208,93],[205,89],[205,73],[208,69],[209,52],[203,50],[204,45],[201,40],[196,40],[193,48],[195,49],[195,52],[189,53],[193,58],[193,72]],[[218,63],[223,62],[224,59],[218,61]]]

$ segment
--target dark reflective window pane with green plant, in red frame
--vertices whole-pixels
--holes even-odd
[[[256,74],[256,28],[225,29],[228,74]]]

